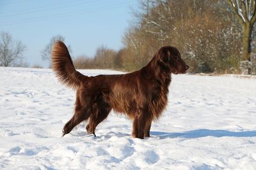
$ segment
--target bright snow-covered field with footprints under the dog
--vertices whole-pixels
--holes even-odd
[[[117,71],[81,70],[89,76]],[[75,92],[51,69],[0,67],[0,169],[256,169],[256,80],[173,75],[151,137],[111,113],[61,138]]]

